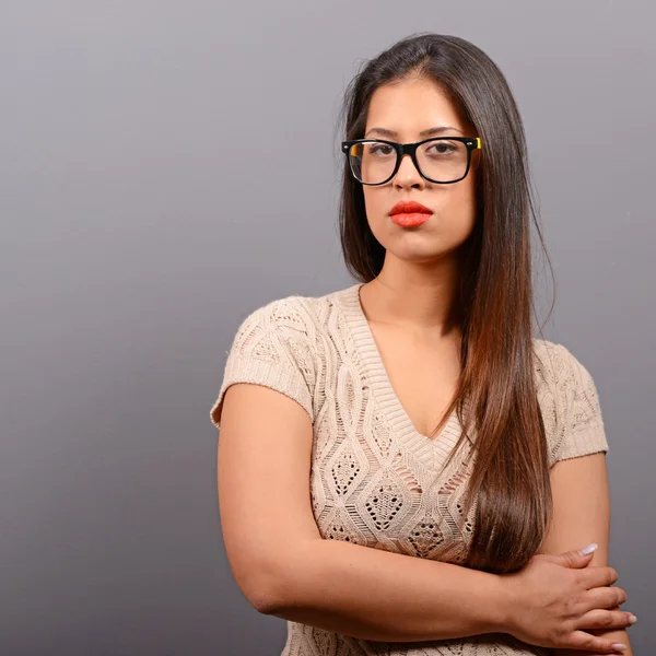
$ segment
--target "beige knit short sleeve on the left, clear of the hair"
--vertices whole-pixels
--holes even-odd
[[[249,314],[237,328],[210,411],[216,427],[221,426],[225,393],[235,383],[276,389],[295,400],[313,419],[312,330],[298,298],[272,301]]]

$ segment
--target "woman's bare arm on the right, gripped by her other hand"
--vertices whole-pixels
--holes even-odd
[[[588,566],[607,566],[610,500],[606,455],[598,453],[555,462],[551,468],[551,489],[553,522],[539,553],[555,554],[575,549],[578,544],[597,542],[598,548]],[[628,646],[624,656],[633,655],[625,630],[587,632],[622,643]],[[554,649],[554,654],[598,656],[576,649]]]

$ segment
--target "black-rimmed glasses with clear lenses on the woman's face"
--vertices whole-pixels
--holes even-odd
[[[409,154],[420,175],[430,183],[450,185],[465,178],[471,164],[471,151],[481,148],[479,137],[432,137],[415,143],[385,139],[342,141],[353,177],[363,185],[384,185],[399,169],[401,157]]]

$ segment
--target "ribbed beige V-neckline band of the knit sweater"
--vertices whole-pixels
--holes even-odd
[[[363,284],[356,283],[347,288],[339,298],[374,398],[396,435],[411,448],[424,465],[438,467],[448,457],[460,435],[461,426],[456,410],[452,411],[435,437],[429,437],[414,427],[410,415],[391,386],[376,340],[364,314],[360,298],[360,288]]]

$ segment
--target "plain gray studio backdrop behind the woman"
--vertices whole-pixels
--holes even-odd
[[[284,621],[223,551],[209,411],[248,312],[351,284],[337,109],[421,31],[472,40],[516,94],[546,336],[599,389],[611,564],[648,653],[655,9],[536,4],[2,3],[0,653],[279,654]]]

